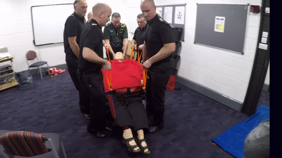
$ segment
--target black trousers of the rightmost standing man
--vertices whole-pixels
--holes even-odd
[[[146,99],[147,115],[153,115],[153,126],[164,126],[164,96],[169,78],[172,75],[174,61],[155,63],[147,70]]]

